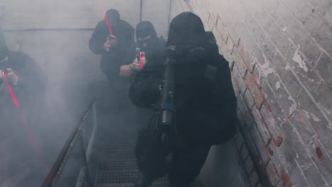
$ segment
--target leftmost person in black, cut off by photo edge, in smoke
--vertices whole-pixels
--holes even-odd
[[[4,129],[5,134],[13,136],[14,140],[9,143],[6,151],[11,155],[20,155],[8,159],[9,165],[15,163],[15,167],[9,168],[9,172],[23,169],[16,165],[21,163],[17,158],[23,157],[24,165],[33,171],[31,180],[38,181],[39,177],[45,175],[40,157],[47,155],[47,152],[38,150],[49,145],[45,143],[47,136],[43,135],[43,130],[49,128],[50,123],[45,110],[47,77],[32,57],[23,52],[0,50],[1,80],[3,83],[0,83],[0,127]],[[4,133],[1,135],[5,135]]]

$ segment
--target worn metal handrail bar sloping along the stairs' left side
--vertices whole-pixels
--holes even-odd
[[[74,142],[77,140],[77,137],[79,136],[79,132],[82,130],[82,126],[84,125],[84,122],[87,119],[87,116],[89,115],[89,112],[91,111],[95,102],[96,102],[96,97],[94,97],[92,99],[91,103],[89,103],[89,106],[86,108],[84,114],[82,115],[81,119],[79,120],[79,124],[77,124],[75,126],[74,130],[70,134],[70,137],[68,138],[64,147],[62,148],[62,151],[60,152],[59,156],[57,157],[55,164],[53,164],[52,169],[48,173],[48,176],[46,177],[42,187],[51,187],[59,179],[59,176],[67,162],[70,152],[72,152]]]

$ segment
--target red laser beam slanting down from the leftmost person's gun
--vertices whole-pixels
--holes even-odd
[[[31,132],[30,125],[28,124],[28,121],[26,120],[26,116],[22,113],[20,103],[18,102],[18,99],[16,97],[15,92],[13,91],[13,88],[11,87],[11,84],[9,83],[9,79],[6,76],[6,72],[2,72],[4,74],[4,79],[6,81],[7,87],[9,89],[9,92],[11,94],[11,98],[13,99],[13,103],[15,103],[15,106],[18,111],[18,115],[20,116],[21,122],[23,123],[24,127],[26,128],[26,131],[28,132],[28,140],[33,146],[33,149],[35,149],[35,152],[40,155],[40,147],[35,143],[35,140],[33,139],[33,133]]]

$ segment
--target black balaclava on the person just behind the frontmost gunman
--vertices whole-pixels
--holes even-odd
[[[151,35],[151,38],[148,40],[140,41],[138,38],[146,38],[148,35]],[[153,53],[157,47],[158,37],[157,32],[153,23],[150,21],[143,21],[137,24],[136,26],[136,40],[140,50],[145,52],[146,55]]]

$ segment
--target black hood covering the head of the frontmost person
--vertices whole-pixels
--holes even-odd
[[[167,45],[201,46],[205,29],[201,18],[192,12],[180,13],[170,23]]]

